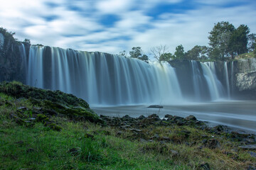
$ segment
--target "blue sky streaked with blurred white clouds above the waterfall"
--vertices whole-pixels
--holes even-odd
[[[32,44],[119,54],[208,45],[214,23],[256,33],[255,0],[0,0],[0,27]]]

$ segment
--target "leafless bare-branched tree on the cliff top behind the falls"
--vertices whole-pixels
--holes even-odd
[[[168,55],[165,55],[169,53],[168,47],[166,45],[159,45],[156,47],[152,47],[150,51],[152,55],[154,55],[155,59],[158,60],[159,62],[168,60]]]

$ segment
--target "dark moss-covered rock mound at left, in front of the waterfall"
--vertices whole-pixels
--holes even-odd
[[[38,89],[17,81],[1,82],[0,93],[14,98],[27,98],[33,106],[41,107],[59,115],[67,115],[75,120],[90,120],[93,123],[102,123],[102,119],[90,109],[89,104],[73,94]]]

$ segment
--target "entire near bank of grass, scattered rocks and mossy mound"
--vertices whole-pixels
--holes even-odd
[[[193,116],[99,118],[73,95],[0,84],[0,169],[253,169],[249,144]]]

